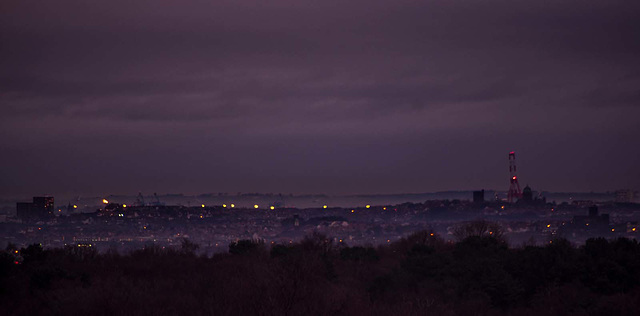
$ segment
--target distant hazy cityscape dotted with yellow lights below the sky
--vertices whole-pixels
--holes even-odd
[[[505,192],[485,190],[344,197],[140,193],[66,203],[38,196],[17,202],[15,213],[0,217],[0,226],[5,246],[37,243],[45,248],[127,251],[148,245],[176,247],[188,239],[200,245],[202,253],[214,254],[226,252],[238,240],[287,244],[314,232],[336,243],[363,246],[391,243],[420,230],[453,240],[456,225],[484,219],[498,223],[511,246],[558,238],[579,244],[591,237],[636,239],[637,199],[632,190],[571,195],[535,192],[528,186],[512,203]]]

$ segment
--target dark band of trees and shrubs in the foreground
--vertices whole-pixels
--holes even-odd
[[[375,249],[317,234],[247,240],[210,258],[188,241],[126,255],[9,247],[0,306],[12,315],[640,314],[635,240],[514,249],[497,233],[459,233],[457,243],[422,231]]]

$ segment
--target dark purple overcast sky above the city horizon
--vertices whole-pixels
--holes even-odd
[[[640,189],[640,1],[0,4],[0,192]]]

